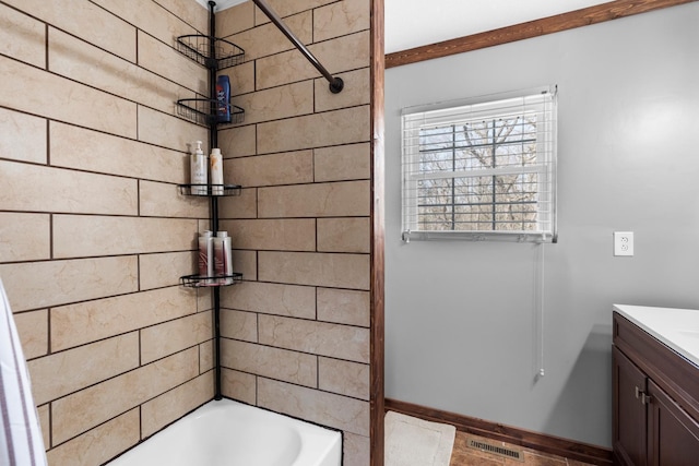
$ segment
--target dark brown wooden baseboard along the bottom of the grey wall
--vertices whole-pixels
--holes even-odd
[[[532,432],[516,427],[458,415],[455,413],[414,405],[412,403],[399,402],[398,399],[392,398],[386,398],[384,406],[387,411],[396,411],[434,422],[447,422],[455,426],[457,430],[473,433],[474,435],[482,435],[511,443],[513,445],[535,449],[542,452],[552,453],[593,465],[611,466],[613,464],[612,450],[603,449],[601,446]]]

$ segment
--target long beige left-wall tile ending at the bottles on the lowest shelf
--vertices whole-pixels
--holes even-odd
[[[196,231],[196,219],[55,215],[54,256],[191,250]]]

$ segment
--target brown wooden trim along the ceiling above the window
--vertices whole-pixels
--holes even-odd
[[[697,0],[615,0],[541,20],[388,53],[386,68],[464,53],[694,1]]]

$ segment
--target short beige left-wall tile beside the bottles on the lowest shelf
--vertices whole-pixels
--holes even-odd
[[[191,275],[197,271],[196,260],[197,255],[192,251],[139,255],[140,289],[179,284],[179,277]]]

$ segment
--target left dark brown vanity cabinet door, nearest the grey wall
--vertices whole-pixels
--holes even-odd
[[[614,456],[624,465],[647,466],[647,411],[640,397],[647,377],[616,347],[612,355]]]

